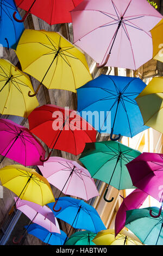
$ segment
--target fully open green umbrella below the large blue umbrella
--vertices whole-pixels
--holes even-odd
[[[113,197],[111,200],[106,199],[109,185],[118,190],[135,188],[126,164],[140,154],[140,151],[131,149],[120,142],[103,141],[86,143],[80,161],[89,170],[92,178],[102,180],[108,184],[104,199],[106,202],[112,202]]]

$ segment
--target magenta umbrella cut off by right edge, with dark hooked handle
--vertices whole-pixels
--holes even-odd
[[[126,164],[133,185],[163,202],[163,154],[142,153]],[[161,214],[162,205],[159,215]],[[159,217],[152,215],[152,217]]]

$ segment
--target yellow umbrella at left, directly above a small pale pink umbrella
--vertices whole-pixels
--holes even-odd
[[[55,202],[51,186],[46,178],[34,169],[19,164],[0,169],[2,185],[14,192],[18,198],[45,205]]]

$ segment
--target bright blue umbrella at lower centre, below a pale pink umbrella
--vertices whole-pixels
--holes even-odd
[[[54,203],[49,203],[48,206],[53,210]],[[106,229],[96,209],[83,200],[72,197],[60,197],[57,206],[58,208],[61,207],[61,210],[55,212],[55,217],[70,224],[71,228],[85,229],[93,233]],[[70,231],[68,234],[70,234]]]

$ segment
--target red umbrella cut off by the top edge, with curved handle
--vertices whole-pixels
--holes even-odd
[[[76,7],[82,0],[15,0],[17,7],[26,10],[22,20],[18,20],[17,14],[14,14],[14,18],[18,22],[23,22],[29,13],[34,14],[40,19],[46,21],[49,25],[57,23],[72,22],[70,11]]]

